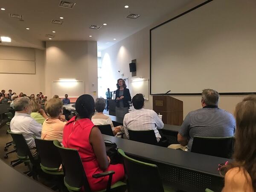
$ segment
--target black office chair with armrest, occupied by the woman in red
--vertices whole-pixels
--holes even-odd
[[[78,151],[76,149],[61,147],[61,144],[58,142],[58,140],[54,140],[53,143],[58,148],[58,151],[61,155],[65,175],[64,184],[67,187],[67,189],[70,192],[75,192],[80,191],[83,186],[84,191],[91,192]],[[100,178],[109,175],[107,189],[102,190],[100,192],[112,192],[115,190],[119,192],[125,191],[126,184],[123,183],[122,181],[118,181],[111,186],[112,175],[114,173],[115,172],[113,171],[109,171],[93,175],[93,178]]]

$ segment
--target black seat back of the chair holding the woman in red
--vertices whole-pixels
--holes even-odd
[[[61,155],[65,185],[72,188],[81,188],[84,186],[84,191],[91,192],[78,151],[76,149],[62,147],[58,140],[54,140],[53,143]]]

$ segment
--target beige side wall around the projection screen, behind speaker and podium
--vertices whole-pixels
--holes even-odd
[[[128,77],[131,79],[131,73],[129,72],[128,64],[132,59],[137,59],[137,77],[149,79],[149,30],[152,27],[157,26],[158,24],[163,23],[164,21],[169,20],[172,17],[175,17],[203,2],[204,0],[195,0],[182,9],[166,15],[157,23],[146,27],[145,29],[129,36],[128,38],[125,38],[122,41],[119,41],[108,49],[103,50],[102,69],[105,69],[105,75],[102,76],[102,78],[105,78],[106,82],[104,86],[109,86],[112,90],[115,90],[116,79],[121,78],[122,73],[124,74],[123,78]],[[118,70],[120,70],[120,73],[118,73]],[[168,90],[168,86],[166,86],[164,82],[159,86],[166,87],[166,91]],[[183,101],[183,117],[185,117],[189,111],[201,108],[201,96],[174,97]],[[219,107],[229,111],[230,113],[233,113],[236,103],[239,102],[242,98],[243,96],[221,96]],[[152,96],[150,96],[149,101],[145,101],[145,108],[152,109],[152,102]]]

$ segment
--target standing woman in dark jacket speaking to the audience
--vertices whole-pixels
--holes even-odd
[[[116,87],[116,116],[124,118],[129,109],[128,101],[131,101],[130,91],[126,88],[126,84],[123,79],[117,80]]]

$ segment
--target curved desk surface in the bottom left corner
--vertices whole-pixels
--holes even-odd
[[[53,192],[48,187],[16,171],[0,160],[0,191],[3,192]]]

